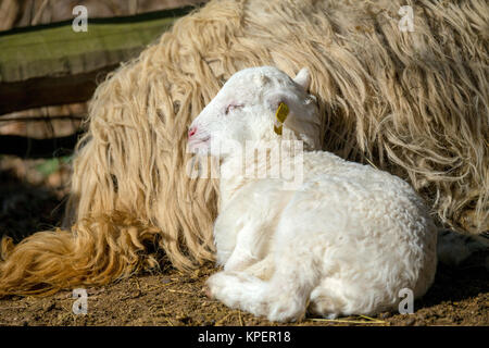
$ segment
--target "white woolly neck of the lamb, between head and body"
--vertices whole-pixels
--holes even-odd
[[[265,178],[279,179],[281,167],[293,160],[297,151],[302,148],[291,147],[290,141],[255,141],[247,142],[242,151],[234,151],[221,163],[221,207],[239,191],[241,187],[251,182]]]

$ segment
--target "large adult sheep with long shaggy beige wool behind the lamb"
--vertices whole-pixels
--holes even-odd
[[[411,5],[413,32],[399,28]],[[216,182],[185,175],[187,127],[236,71],[308,66],[324,149],[372,162],[440,224],[488,229],[488,33],[484,0],[211,1],[101,84],[80,139],[64,225],[2,243],[0,295],[105,284],[158,260],[213,258]]]

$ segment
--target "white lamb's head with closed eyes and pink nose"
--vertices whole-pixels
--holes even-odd
[[[272,66],[237,72],[190,125],[190,151],[223,156],[233,145],[277,137],[303,140],[304,148],[321,148],[321,116],[315,98],[308,94],[310,80],[306,69],[293,79]],[[280,103],[289,112],[278,135],[274,123]]]

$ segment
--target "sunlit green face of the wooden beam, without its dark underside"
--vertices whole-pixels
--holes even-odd
[[[93,71],[137,54],[166,30],[173,18],[129,24],[89,24],[0,38],[0,83]]]

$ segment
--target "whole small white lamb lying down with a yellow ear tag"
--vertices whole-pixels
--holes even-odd
[[[214,241],[224,270],[208,279],[208,295],[279,322],[306,311],[336,318],[396,309],[401,289],[419,298],[434,282],[435,224],[401,178],[321,150],[310,82],[308,69],[293,79],[272,66],[239,71],[190,125],[189,151],[220,159]],[[284,105],[281,124],[275,112]],[[271,144],[279,159],[271,151],[256,158]],[[250,165],[297,164],[287,144],[304,148],[296,188],[285,188],[285,175],[246,175]]]

